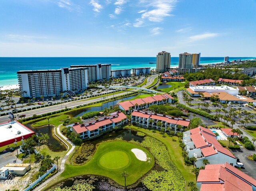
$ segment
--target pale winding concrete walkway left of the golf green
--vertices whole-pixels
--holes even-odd
[[[68,158],[68,156],[72,153],[72,151],[75,149],[75,145],[68,139],[66,138],[64,135],[62,135],[62,133],[60,132],[60,126],[61,124],[57,127],[57,132],[58,134],[64,139],[66,140],[71,146],[72,148],[68,151],[68,153],[63,157],[61,163],[60,163],[60,172],[56,173],[54,176],[50,177],[48,180],[46,180],[44,183],[42,183],[40,186],[36,187],[34,189],[34,191],[42,191],[45,186],[50,183],[50,181],[52,181],[53,179],[55,179],[56,177],[58,177],[65,169],[65,162],[66,162],[66,159]],[[57,135],[56,135],[57,136]],[[64,142],[62,139],[61,139],[62,142]],[[66,144],[64,142],[64,144]],[[66,144],[67,145],[67,144]],[[69,146],[68,146],[69,148]]]

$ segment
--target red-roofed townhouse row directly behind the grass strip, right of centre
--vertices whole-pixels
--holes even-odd
[[[166,130],[168,131],[169,127],[170,131],[173,131],[174,134],[176,134],[176,132],[182,132],[184,128],[187,128],[190,124],[189,119],[150,113],[142,110],[134,110],[132,112],[131,122],[132,124],[136,124],[144,128],[153,128],[157,130],[164,128],[165,132]],[[159,125],[158,122],[161,122],[161,125]]]

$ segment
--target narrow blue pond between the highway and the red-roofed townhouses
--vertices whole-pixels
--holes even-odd
[[[87,113],[87,112],[102,111],[102,110],[104,110],[105,107],[109,108],[110,106],[114,106],[114,105],[118,104],[118,102],[120,102],[122,100],[123,101],[129,100],[129,99],[132,99],[136,96],[138,96],[138,95],[128,96],[128,97],[125,97],[125,98],[121,98],[121,99],[117,99],[117,100],[114,100],[114,101],[106,102],[106,103],[102,104],[102,106],[82,108],[82,109],[79,109],[79,110],[76,110],[76,111],[68,112],[67,115],[69,115],[71,117],[78,117],[78,116],[82,116],[84,113]]]

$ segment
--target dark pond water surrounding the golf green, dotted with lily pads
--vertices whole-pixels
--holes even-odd
[[[137,136],[136,134],[137,134],[136,131],[132,131],[129,129],[118,130],[116,132],[111,132],[109,134],[102,135],[90,141],[86,141],[86,143],[96,145],[102,141],[106,141],[110,139],[113,140],[119,137],[122,137],[123,140],[126,140],[126,141],[135,140],[135,141],[142,142],[143,138],[140,136]],[[162,167],[160,167],[159,165],[155,164],[152,170],[163,171],[164,169],[162,169]],[[137,181],[133,185],[128,186],[128,188],[126,189],[125,187],[122,187],[121,185],[117,184],[112,179],[109,179],[107,177],[102,177],[102,176],[96,176],[96,175],[82,175],[82,176],[71,177],[69,179],[59,182],[54,187],[61,187],[61,188],[65,186],[70,187],[77,183],[90,183],[95,187],[93,191],[149,191],[144,185],[142,185],[141,180]]]

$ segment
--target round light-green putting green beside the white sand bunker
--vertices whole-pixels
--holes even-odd
[[[123,151],[111,151],[102,155],[99,162],[105,168],[119,169],[128,165],[129,157]]]

